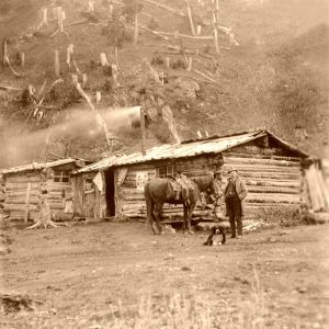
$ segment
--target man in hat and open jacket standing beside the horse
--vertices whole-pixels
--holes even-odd
[[[229,169],[229,179],[224,190],[226,203],[226,216],[229,218],[231,238],[236,238],[236,226],[238,229],[238,239],[242,237],[242,219],[245,215],[243,200],[248,194],[246,184],[238,177],[236,169]]]

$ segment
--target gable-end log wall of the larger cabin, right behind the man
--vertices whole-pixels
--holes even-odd
[[[248,189],[245,201],[247,215],[259,208],[299,207],[303,194],[299,158],[232,151],[223,156],[223,185],[228,179],[227,169],[236,168]]]

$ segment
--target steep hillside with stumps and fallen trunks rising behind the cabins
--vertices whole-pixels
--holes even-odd
[[[172,125],[181,139],[196,137],[196,131],[205,135],[265,127],[308,152],[329,156],[327,1],[222,0],[218,24],[231,26],[239,45],[219,31],[219,53],[213,41],[174,37],[174,32],[191,35],[184,1],[157,0],[174,13],[154,2],[138,1],[136,45],[134,22],[123,4],[132,1],[114,1],[114,18],[126,13],[125,20],[116,21],[109,21],[109,2],[101,0],[94,1],[92,12],[87,0],[1,2],[0,38],[9,39],[10,58],[21,77],[0,67],[0,86],[22,89],[0,89],[1,167],[56,155],[98,159],[109,154],[103,131],[72,84],[71,75],[77,70],[66,65],[69,44],[73,44],[73,58],[81,72],[79,81],[82,73],[88,76],[83,90],[93,103],[97,91],[101,92],[97,107],[111,134],[118,138],[112,152],[139,148],[136,112],[122,109],[143,105],[148,146],[174,141],[167,124],[172,113]],[[211,4],[190,3],[201,36],[212,35]],[[57,21],[53,12],[59,5],[66,13],[64,33],[54,34]],[[48,9],[48,25],[37,27],[44,8]],[[155,35],[147,26],[172,35]],[[117,88],[110,67],[100,65],[100,53],[106,54],[110,64],[116,63],[115,42]],[[59,52],[63,81],[52,87],[58,79],[55,49]],[[16,56],[22,52],[24,67],[19,66]],[[191,71],[186,70],[185,57],[193,58]],[[162,84],[155,81],[145,58],[160,77],[163,72]],[[35,99],[26,95],[29,84]],[[38,93],[43,95],[39,99]],[[33,101],[41,99],[42,106],[36,110]]]

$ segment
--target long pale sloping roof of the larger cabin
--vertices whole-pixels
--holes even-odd
[[[258,132],[234,134],[229,136],[216,135],[203,139],[190,139],[174,145],[164,144],[146,150],[145,156],[143,156],[140,151],[129,154],[129,155],[112,156],[102,159],[98,162],[94,162],[92,164],[86,166],[81,169],[75,170],[73,173],[102,171],[111,167],[149,162],[152,160],[178,159],[178,158],[194,157],[198,155],[218,154],[229,148],[232,148],[235,146],[247,144],[251,140],[264,136],[270,136],[274,138],[283,148],[291,150],[292,152],[296,154],[298,157],[303,157],[303,158],[308,157],[307,154],[297,149],[293,145],[280,139],[279,137],[274,136],[268,131],[258,131]]]

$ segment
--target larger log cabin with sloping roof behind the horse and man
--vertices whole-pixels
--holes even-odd
[[[274,206],[298,209],[300,202],[309,198],[303,168],[307,158],[268,131],[162,145],[145,156],[113,156],[73,172],[75,214],[88,218],[145,217],[144,185],[148,180],[174,175],[178,170],[194,178],[219,169],[224,186],[228,167],[238,169],[247,184],[247,214]],[[195,214],[209,216],[209,211],[196,207]],[[164,218],[181,215],[182,206],[164,205]]]

